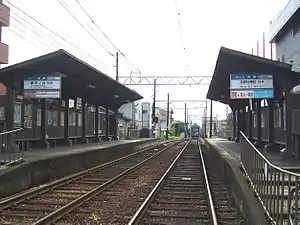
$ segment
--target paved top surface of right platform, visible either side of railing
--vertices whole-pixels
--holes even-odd
[[[208,142],[212,142],[220,148],[227,151],[232,157],[240,161],[240,154],[242,150],[241,143],[235,143],[222,138],[207,139]],[[274,152],[262,152],[262,154],[274,165],[285,169],[300,169],[300,162],[294,159],[283,158],[280,153]]]

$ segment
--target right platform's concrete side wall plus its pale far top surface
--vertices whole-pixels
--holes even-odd
[[[205,155],[213,159],[213,168],[226,180],[235,204],[239,206],[246,224],[270,224],[263,208],[253,194],[243,172],[240,169],[240,149],[238,145],[231,150],[230,142],[225,139],[205,139]],[[235,144],[235,143],[232,143]]]

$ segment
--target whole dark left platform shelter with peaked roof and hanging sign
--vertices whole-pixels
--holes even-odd
[[[0,128],[22,129],[26,148],[117,139],[117,111],[142,99],[65,50],[0,70]]]

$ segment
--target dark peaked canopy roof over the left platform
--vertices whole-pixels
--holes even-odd
[[[86,100],[94,106],[117,110],[143,97],[67,51],[58,51],[0,70],[0,82],[21,90],[25,76],[61,74],[62,96]]]

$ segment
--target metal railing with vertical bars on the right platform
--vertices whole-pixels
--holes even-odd
[[[300,175],[269,162],[243,132],[241,143],[242,167],[268,217],[275,224],[300,224]]]

